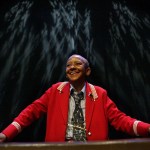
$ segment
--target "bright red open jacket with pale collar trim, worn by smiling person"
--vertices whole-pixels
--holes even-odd
[[[43,113],[47,113],[45,141],[65,141],[69,94],[70,84],[68,82],[54,84],[39,99],[25,108],[14,121],[24,128]],[[87,141],[107,140],[108,122],[117,130],[122,130],[130,135],[135,134],[133,126],[136,120],[118,110],[114,102],[107,96],[106,90],[101,87],[86,83],[85,105]],[[140,122],[135,127],[138,134],[145,136],[148,134],[150,125]],[[2,133],[8,139],[12,139],[18,134],[18,129],[11,124]]]

